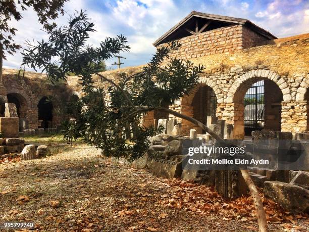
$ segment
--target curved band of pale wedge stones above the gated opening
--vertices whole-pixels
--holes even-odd
[[[226,103],[233,103],[235,93],[239,89],[240,85],[250,79],[252,79],[252,83],[259,79],[272,80],[281,89],[283,94],[283,101],[288,102],[292,100],[291,90],[287,82],[278,73],[270,71],[268,69],[256,69],[246,72],[233,82],[227,93]]]

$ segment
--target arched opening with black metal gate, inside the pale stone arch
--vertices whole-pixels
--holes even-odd
[[[254,130],[281,131],[282,101],[282,91],[273,80],[256,77],[241,83],[233,97],[234,138]]]

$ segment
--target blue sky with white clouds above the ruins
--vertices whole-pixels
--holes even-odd
[[[56,20],[59,26],[66,24],[75,10],[86,10],[96,29],[88,44],[97,46],[107,36],[125,35],[131,50],[121,54],[126,57],[122,67],[146,64],[155,53],[152,43],[191,11],[245,18],[277,37],[309,33],[308,0],[71,0],[64,9],[65,16]],[[15,42],[25,48],[27,39],[46,40],[36,13],[29,9],[22,14],[22,20],[11,21],[18,29]],[[19,68],[21,51],[7,55],[4,68]],[[111,65],[115,61],[106,62],[109,69],[116,68]]]

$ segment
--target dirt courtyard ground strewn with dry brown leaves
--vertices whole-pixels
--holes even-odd
[[[27,221],[36,231],[258,229],[250,197],[224,200],[210,188],[101,158],[83,144],[0,164],[0,202],[0,226]],[[307,215],[292,215],[266,199],[264,205],[271,231],[309,231]]]

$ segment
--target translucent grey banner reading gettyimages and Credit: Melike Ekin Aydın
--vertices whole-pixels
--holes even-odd
[[[195,142],[183,144],[182,154],[187,155],[182,162],[183,169],[236,170],[250,167],[276,170],[309,169],[307,155],[309,142],[265,140],[247,143],[230,140],[224,145]]]

